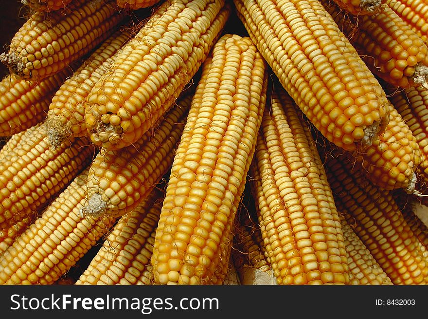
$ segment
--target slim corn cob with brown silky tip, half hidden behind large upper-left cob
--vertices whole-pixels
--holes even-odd
[[[106,72],[114,57],[118,55],[118,50],[120,51],[130,35],[131,29],[115,32],[56,92],[46,118],[49,142],[52,147],[56,148],[66,137],[88,134],[83,101]]]

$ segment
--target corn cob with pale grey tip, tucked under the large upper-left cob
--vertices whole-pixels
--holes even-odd
[[[192,96],[192,90],[183,92],[177,106],[134,145],[101,150],[91,164],[82,215],[119,217],[143,201],[172,165]]]

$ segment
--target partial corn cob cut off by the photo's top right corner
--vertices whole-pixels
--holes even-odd
[[[390,0],[386,4],[427,43],[428,5],[425,0]]]

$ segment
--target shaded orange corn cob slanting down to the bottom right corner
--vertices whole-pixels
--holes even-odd
[[[427,284],[428,251],[406,223],[392,192],[364,178],[340,150],[319,147],[335,203],[393,284]],[[327,155],[326,155],[327,154]]]

